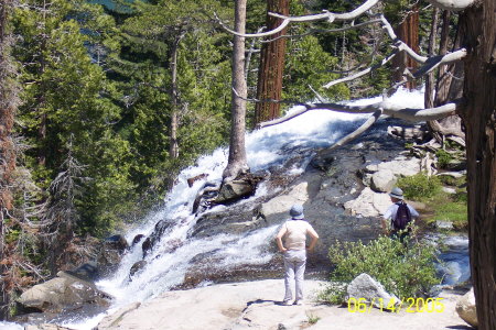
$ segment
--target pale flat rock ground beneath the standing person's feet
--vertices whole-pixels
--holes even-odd
[[[363,312],[315,301],[324,283],[305,282],[304,306],[282,306],[282,279],[223,284],[191,290],[169,292],[143,304],[133,304],[108,316],[98,326],[104,329],[134,330],[241,330],[241,329],[367,329],[431,330],[472,329],[456,314],[459,295],[443,292],[431,312]],[[441,305],[442,304],[442,305]],[[438,311],[433,311],[438,310]],[[441,311],[442,310],[442,311]]]

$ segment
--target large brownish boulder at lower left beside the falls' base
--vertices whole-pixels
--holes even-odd
[[[66,272],[58,272],[57,276],[25,290],[18,302],[43,312],[73,310],[84,304],[108,305],[108,296],[99,292],[93,283]]]

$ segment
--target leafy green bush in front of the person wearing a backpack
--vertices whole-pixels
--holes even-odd
[[[362,273],[380,282],[386,290],[399,298],[425,297],[434,285],[434,248],[418,242],[401,243],[380,237],[368,244],[338,242],[328,251],[335,270],[331,274],[332,285],[321,293],[320,298],[331,304],[344,300],[345,290],[336,283],[349,283]]]

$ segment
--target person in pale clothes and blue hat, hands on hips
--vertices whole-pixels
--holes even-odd
[[[291,305],[293,299],[292,286],[295,282],[294,305],[303,305],[303,280],[306,264],[306,250],[315,248],[319,234],[312,226],[304,220],[303,206],[294,205],[290,210],[291,220],[285,221],[278,234],[276,242],[279,252],[284,257],[284,286],[285,294],[283,305]],[[306,235],[311,237],[310,245],[306,248]],[[284,242],[282,240],[284,239]]]

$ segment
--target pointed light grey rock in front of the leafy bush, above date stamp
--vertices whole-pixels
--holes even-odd
[[[346,290],[348,299],[355,298],[358,301],[358,299],[365,298],[367,302],[373,304],[377,308],[385,308],[391,301],[395,301],[395,305],[399,302],[399,299],[395,295],[387,293],[379,282],[365,273],[355,277]]]

